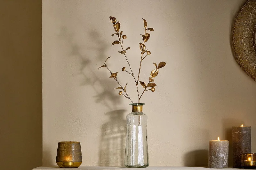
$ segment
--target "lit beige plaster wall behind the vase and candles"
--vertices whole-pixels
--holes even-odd
[[[127,35],[137,75],[143,20],[155,29],[146,43],[141,80],[153,62],[167,62],[156,91],[141,102],[148,115],[151,166],[207,166],[209,140],[230,140],[231,127],[252,126],[256,152],[256,82],[236,63],[230,46],[233,18],[244,0],[43,1],[43,164],[55,165],[58,141],[80,141],[83,164],[121,166],[129,100],[108,66],[136,101],[133,78],[109,16]],[[141,87],[140,92],[142,90]],[[231,145],[231,144],[230,144]],[[232,153],[230,162],[232,165]]]

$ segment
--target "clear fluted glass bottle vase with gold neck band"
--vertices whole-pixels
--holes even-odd
[[[126,116],[127,131],[124,165],[131,168],[148,167],[147,115],[144,103],[132,103],[132,113]]]

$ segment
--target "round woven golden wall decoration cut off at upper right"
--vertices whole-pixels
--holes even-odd
[[[256,0],[248,0],[239,11],[233,29],[233,49],[237,63],[256,81]]]

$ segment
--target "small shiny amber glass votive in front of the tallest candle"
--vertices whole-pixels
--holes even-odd
[[[244,169],[256,168],[256,153],[242,153],[241,165]]]

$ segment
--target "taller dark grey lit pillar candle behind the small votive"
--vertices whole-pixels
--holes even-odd
[[[232,127],[233,167],[241,168],[241,154],[252,152],[252,127]]]

